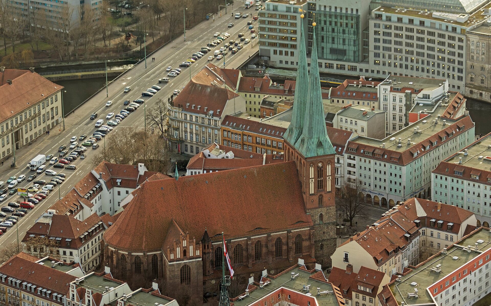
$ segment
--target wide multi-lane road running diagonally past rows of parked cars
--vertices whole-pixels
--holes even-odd
[[[19,149],[16,159],[17,168],[10,169],[8,164],[11,159],[5,162],[5,165],[0,167],[0,181],[6,181],[10,176],[19,176],[20,174],[25,174],[29,176],[29,174],[34,173],[34,171],[30,171],[26,168],[27,163],[33,159],[38,154],[55,154],[58,156],[58,147],[61,144],[66,144],[67,147],[70,144],[70,138],[72,136],[80,136],[82,134],[92,135],[92,133],[96,130],[94,127],[96,120],[90,120],[89,116],[92,112],[97,112],[99,114],[98,119],[102,119],[106,117],[106,114],[109,112],[119,113],[122,110],[124,100],[135,100],[141,97],[141,92],[145,91],[147,88],[150,88],[152,85],[160,85],[162,89],[155,94],[153,97],[148,98],[144,97],[146,100],[146,108],[152,108],[155,104],[155,101],[158,98],[162,98],[164,101],[172,94],[174,89],[182,89],[186,83],[190,80],[190,70],[191,77],[195,75],[201,68],[203,68],[206,64],[209,63],[207,61],[207,57],[213,54],[213,51],[218,50],[219,47],[223,46],[218,45],[217,47],[212,48],[212,51],[208,54],[205,54],[202,58],[196,60],[196,62],[192,63],[191,67],[181,68],[182,73],[177,77],[172,78],[169,83],[158,83],[159,78],[166,77],[167,72],[165,68],[167,66],[172,66],[173,68],[178,68],[179,64],[185,61],[191,54],[199,51],[201,47],[207,45],[209,41],[214,40],[213,34],[215,32],[228,32],[231,36],[226,40],[235,39],[238,40],[238,33],[245,33],[246,38],[250,38],[250,30],[247,26],[247,21],[252,20],[251,17],[235,19],[230,14],[241,12],[241,13],[252,13],[252,15],[257,15],[257,11],[253,8],[245,9],[244,6],[240,6],[243,2],[236,1],[235,9],[232,11],[230,8],[227,9],[228,14],[215,18],[215,21],[208,20],[200,23],[194,28],[186,31],[186,41],[184,41],[184,36],[174,39],[172,42],[168,43],[165,47],[158,50],[157,52],[147,56],[147,67],[145,68],[145,63],[142,61],[138,65],[136,65],[133,69],[126,72],[121,77],[115,79],[108,86],[109,97],[106,97],[106,90],[100,91],[97,95],[95,95],[92,99],[87,101],[83,106],[81,106],[74,113],[68,114],[65,116],[65,131],[63,131],[62,123],[55,127],[52,130],[51,135],[42,136],[37,141],[33,142],[31,145],[23,147]],[[229,23],[234,23],[234,27],[227,28]],[[253,22],[254,28],[258,28],[258,21]],[[251,39],[249,44],[244,44],[244,49],[240,50],[236,54],[229,53],[225,56],[225,67],[226,68],[237,68],[240,64],[242,64],[250,55],[252,55],[255,51],[257,51],[257,40],[258,38]],[[155,61],[152,61],[151,58],[155,57]],[[223,67],[223,59],[211,61],[217,66]],[[123,88],[126,86],[131,86],[132,90],[129,93],[123,93]],[[106,107],[105,104],[108,100],[113,102],[112,106]],[[114,128],[113,131],[109,133],[111,134],[117,133],[120,127],[143,127],[144,126],[144,118],[143,118],[143,110],[144,105],[142,104],[136,111],[131,112],[128,117],[126,117],[117,127]],[[105,119],[105,122],[107,120]],[[61,129],[61,132],[56,133],[55,130]],[[55,190],[51,192],[46,199],[41,201],[39,204],[36,204],[33,210],[29,210],[25,217],[20,218],[19,223],[14,225],[12,228],[8,229],[6,233],[0,236],[0,248],[6,246],[10,243],[17,242],[17,233],[19,239],[25,236],[27,229],[29,229],[35,222],[35,220],[46,211],[55,201],[58,199],[58,188],[59,194],[61,197],[65,195],[73,186],[90,170],[92,167],[92,156],[93,154],[98,153],[99,150],[103,150],[103,142],[104,140],[100,140],[99,143],[101,147],[99,149],[91,149],[90,147],[87,149],[86,154],[87,158],[77,159],[72,162],[72,165],[76,165],[76,170],[65,170],[54,168],[54,170],[58,173],[62,172],[67,175],[66,180],[60,187],[56,186]],[[80,143],[80,141],[79,141]],[[110,147],[106,147],[106,150],[110,150]],[[52,169],[53,165],[48,165],[47,169]],[[46,174],[38,174],[36,179],[45,179],[49,181],[51,176]],[[31,186],[31,182],[24,181],[20,183],[17,187],[28,187]],[[0,202],[0,206],[6,206],[9,201],[16,201],[18,197],[16,195],[9,196],[3,202]]]

